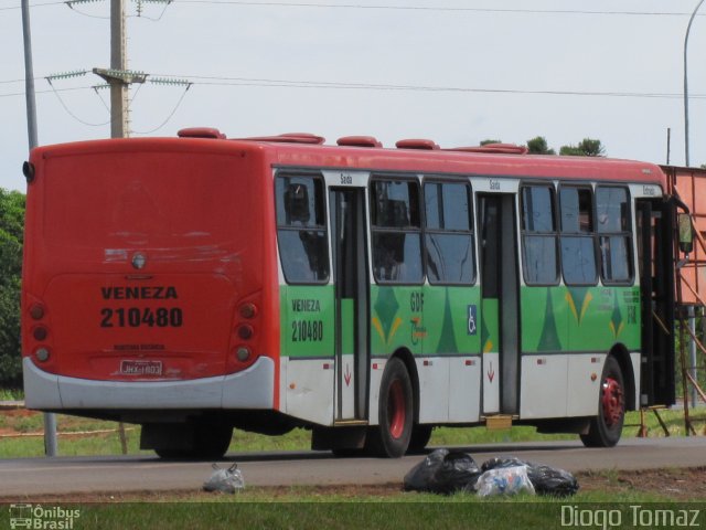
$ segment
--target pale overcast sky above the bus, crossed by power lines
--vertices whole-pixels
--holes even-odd
[[[126,0],[131,136],[216,127],[385,147],[430,138],[684,165],[684,36],[698,0]],[[110,136],[109,0],[30,0],[40,145]],[[25,190],[20,0],[0,0],[0,187]],[[706,6],[688,42],[692,166],[706,163]],[[88,72],[61,77],[67,72]],[[47,77],[50,81],[47,81]],[[161,84],[181,80],[188,84]]]

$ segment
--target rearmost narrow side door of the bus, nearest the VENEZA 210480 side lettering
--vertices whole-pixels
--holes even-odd
[[[367,418],[370,367],[365,189],[329,195],[335,289],[334,423]]]

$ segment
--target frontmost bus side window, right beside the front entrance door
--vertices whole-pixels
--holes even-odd
[[[630,284],[633,261],[628,190],[597,187],[596,212],[603,283]]]

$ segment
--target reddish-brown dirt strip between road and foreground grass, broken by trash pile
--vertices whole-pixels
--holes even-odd
[[[600,471],[600,473],[577,473],[579,491],[630,494],[651,492],[667,497],[673,500],[695,500],[706,499],[706,467],[683,468],[683,469],[644,469],[630,471]],[[291,500],[292,488],[271,487],[257,488],[263,494],[264,499]],[[315,486],[297,488],[298,492],[310,497],[324,497],[335,495],[338,497],[394,497],[403,492],[402,484],[389,483],[374,486]],[[28,498],[34,502],[133,502],[133,501],[179,501],[179,500],[201,500],[206,501],[214,495],[201,490],[176,490],[176,491],[135,491],[135,492],[90,492],[69,495],[43,495]],[[415,495],[415,494],[407,494]],[[0,502],[17,502],[17,498],[3,498]]]

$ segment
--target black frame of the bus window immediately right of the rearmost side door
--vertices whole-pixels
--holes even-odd
[[[411,182],[417,189],[417,215],[419,218],[419,226],[415,230],[409,230],[411,226],[405,229],[398,227],[379,227],[375,224],[377,216],[377,206],[375,205],[376,194],[374,192],[374,187],[376,182]],[[371,266],[373,268],[373,278],[376,285],[389,285],[389,286],[420,286],[425,285],[427,280],[427,269],[426,269],[426,259],[424,256],[424,224],[425,224],[425,208],[422,203],[422,187],[420,183],[420,179],[418,174],[409,174],[409,173],[384,173],[384,172],[374,172],[371,174],[371,178],[367,182],[367,194],[368,194],[368,219],[370,219],[370,248],[371,248]],[[375,235],[379,233],[404,233],[404,234],[417,234],[419,237],[419,266],[420,266],[420,278],[418,282],[406,282],[406,280],[391,280],[391,279],[381,279],[377,276],[377,268],[375,267],[375,258],[376,258],[376,245],[375,245]]]

